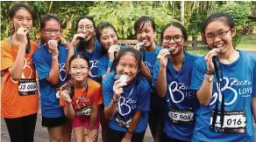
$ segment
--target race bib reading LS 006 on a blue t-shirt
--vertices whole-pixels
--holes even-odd
[[[169,109],[168,116],[174,124],[193,125],[194,112],[192,110],[174,110]]]

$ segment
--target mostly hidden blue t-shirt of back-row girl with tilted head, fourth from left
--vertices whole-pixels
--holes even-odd
[[[120,49],[123,49],[123,48],[127,48],[127,47],[120,45]],[[110,61],[110,58],[107,55],[103,55],[103,57],[101,57],[99,59],[99,62],[98,62],[98,78],[100,80],[102,79],[102,76],[104,74],[106,74],[106,72],[108,70],[109,61]],[[114,65],[115,64],[112,64],[112,67],[111,67],[110,71],[114,71]]]

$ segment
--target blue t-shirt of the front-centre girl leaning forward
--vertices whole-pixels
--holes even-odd
[[[113,98],[113,85],[115,71],[110,72],[105,78],[103,78],[103,104],[104,107],[110,105]],[[117,112],[115,116],[110,120],[109,127],[113,130],[120,132],[127,132],[125,126],[119,126],[117,122],[123,121],[125,125],[131,122],[134,112],[140,111],[141,117],[139,124],[137,125],[135,132],[144,132],[147,127],[148,111],[150,105],[150,85],[146,81],[146,78],[137,80],[135,78],[130,85],[125,86],[124,94],[121,95],[120,101],[117,104]]]

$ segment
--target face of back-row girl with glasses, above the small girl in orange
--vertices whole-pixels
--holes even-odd
[[[78,22],[76,32],[84,34],[84,36],[86,36],[86,41],[89,41],[95,36],[95,28],[92,21],[88,18],[83,18]]]

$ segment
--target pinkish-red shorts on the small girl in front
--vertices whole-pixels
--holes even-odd
[[[100,115],[98,114],[96,118],[96,123],[93,130],[98,130],[100,126]],[[72,128],[84,126],[86,129],[89,129],[89,117],[88,116],[77,116],[71,120]]]

